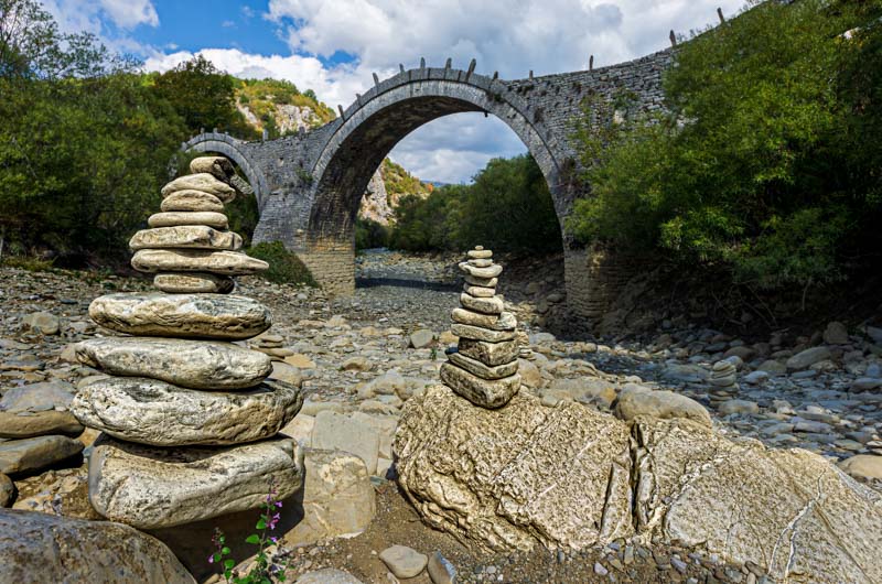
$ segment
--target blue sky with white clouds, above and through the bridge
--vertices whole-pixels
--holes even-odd
[[[311,88],[335,111],[398,71],[499,72],[504,79],[630,61],[731,17],[744,0],[43,0],[67,32],[89,31],[166,71],[202,54],[238,77]],[[458,113],[406,137],[390,158],[422,180],[469,182],[496,156],[525,152],[501,120]]]

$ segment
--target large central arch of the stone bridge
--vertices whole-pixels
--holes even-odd
[[[301,256],[330,292],[351,293],[355,288],[355,219],[383,159],[420,126],[466,111],[493,115],[520,138],[548,182],[562,226],[571,190],[564,169],[572,160],[546,128],[540,109],[504,83],[472,71],[402,71],[376,83],[343,112],[312,166],[314,187]]]

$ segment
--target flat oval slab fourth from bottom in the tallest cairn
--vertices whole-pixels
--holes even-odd
[[[97,324],[127,335],[245,339],[272,326],[272,314],[248,296],[121,293],[92,301]]]

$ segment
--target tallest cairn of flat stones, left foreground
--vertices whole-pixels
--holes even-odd
[[[277,435],[300,411],[300,388],[267,379],[270,358],[238,343],[267,331],[259,302],[229,294],[233,277],[268,264],[239,251],[220,212],[233,166],[195,159],[163,190],[162,213],[130,247],[160,292],[100,296],[92,318],[126,336],[84,340],[80,363],[109,377],[83,387],[72,410],[100,430],[89,457],[89,500],[104,517],[159,529],[257,508],[303,479],[295,441]],[[229,294],[229,295],[228,295]]]

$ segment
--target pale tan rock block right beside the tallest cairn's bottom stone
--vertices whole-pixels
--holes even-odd
[[[358,456],[305,448],[303,516],[284,534],[286,543],[304,545],[364,531],[376,513],[370,473]]]

